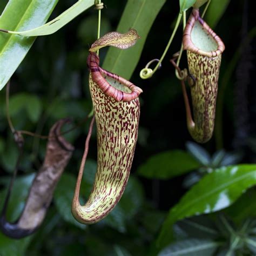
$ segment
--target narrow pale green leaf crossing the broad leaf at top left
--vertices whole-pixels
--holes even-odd
[[[94,5],[95,0],[79,0],[75,4],[73,4],[68,10],[64,11],[62,14],[60,14],[58,17],[53,19],[52,21],[39,26],[35,29],[30,30],[23,30],[23,31],[10,31],[8,30],[8,33],[21,35],[21,36],[45,36],[45,35],[51,35],[52,33],[55,33],[59,29],[61,29],[63,26],[68,24],[72,19],[76,18],[79,14],[81,14],[83,11],[90,8],[92,5]]]

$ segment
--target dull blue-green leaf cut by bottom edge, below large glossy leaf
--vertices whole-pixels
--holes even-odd
[[[175,242],[159,253],[159,256],[211,256],[219,242],[206,239],[186,239]]]

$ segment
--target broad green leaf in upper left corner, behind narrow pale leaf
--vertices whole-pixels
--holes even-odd
[[[10,0],[0,17],[0,28],[26,30],[46,22],[58,0]],[[21,37],[1,33],[0,36],[0,90],[22,62],[35,37]]]

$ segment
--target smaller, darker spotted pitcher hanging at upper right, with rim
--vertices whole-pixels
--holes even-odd
[[[183,46],[187,51],[193,106],[192,118],[184,85],[187,127],[196,142],[205,143],[211,139],[214,129],[221,54],[225,45],[199,16],[199,9],[194,8],[184,29]]]

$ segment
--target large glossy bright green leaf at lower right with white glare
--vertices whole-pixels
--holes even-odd
[[[222,167],[203,177],[171,208],[158,237],[162,248],[172,238],[172,225],[193,215],[211,213],[230,206],[256,184],[256,165]]]

